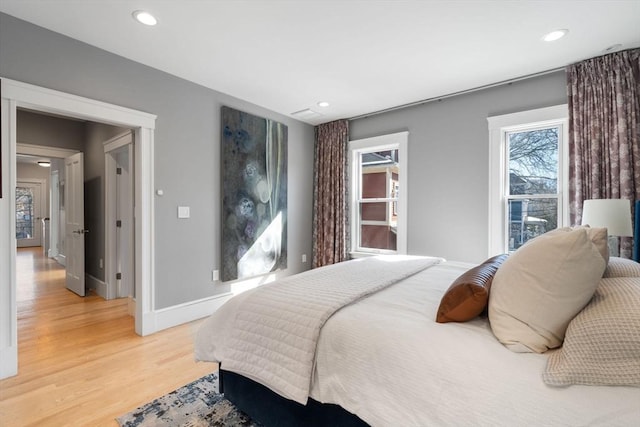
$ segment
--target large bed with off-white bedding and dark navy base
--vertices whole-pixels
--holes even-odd
[[[585,247],[589,245],[583,241],[586,233],[582,231],[567,231],[566,234],[579,234],[581,244]],[[566,240],[566,237],[562,236],[562,239]],[[548,240],[544,242],[545,245],[559,246],[557,241]],[[583,258],[589,263],[589,257],[595,257],[598,253],[591,247],[591,252],[585,255],[575,251],[575,241],[571,244],[571,253],[575,252],[575,256],[564,259],[565,266],[567,262],[583,262]],[[562,245],[558,250],[564,250]],[[545,256],[558,257],[554,253],[543,252]],[[519,258],[531,259],[531,253],[525,255],[512,255],[508,261],[512,257],[516,261]],[[362,289],[358,289],[353,300],[332,309],[329,315],[324,314],[326,319],[319,322],[317,340],[304,344],[313,348],[309,376],[305,378],[302,375],[301,381],[303,385],[308,381],[306,392],[298,393],[296,387],[287,388],[287,381],[283,386],[282,378],[276,378],[291,375],[291,372],[287,372],[291,361],[287,357],[282,358],[282,354],[286,356],[289,353],[287,349],[297,345],[296,340],[306,340],[304,334],[295,337],[293,344],[291,341],[275,344],[275,350],[269,347],[272,344],[265,344],[260,338],[264,326],[261,324],[270,323],[271,320],[275,325],[286,323],[291,317],[290,313],[275,316],[267,313],[266,317],[252,320],[246,318],[247,313],[253,314],[257,307],[266,304],[260,303],[263,301],[262,292],[278,288],[278,284],[240,294],[208,318],[196,337],[196,359],[219,362],[223,378],[221,387],[225,396],[264,425],[640,425],[640,331],[636,331],[635,327],[626,331],[628,325],[625,324],[623,328],[626,331],[623,334],[624,345],[628,347],[625,350],[628,357],[624,362],[627,365],[622,365],[622,374],[617,372],[618,377],[614,378],[614,382],[622,383],[583,385],[580,384],[580,373],[573,376],[577,380],[569,379],[568,383],[563,383],[564,380],[558,382],[557,378],[549,380],[549,359],[556,353],[557,359],[567,345],[543,352],[522,352],[514,350],[508,339],[497,339],[490,318],[486,316],[493,294],[490,298],[484,295],[487,307],[482,311],[485,314],[473,316],[464,322],[436,322],[444,296],[451,290],[452,283],[480,266],[440,258],[408,258],[415,262],[404,274],[399,275],[398,280],[383,278],[383,283],[374,285],[373,290],[362,292]],[[545,265],[552,261],[546,260]],[[343,265],[301,273],[285,281],[295,286],[297,280],[300,283],[309,281],[310,275],[317,278],[324,276],[329,281],[335,281],[337,277],[350,281],[366,271],[377,276],[379,272],[375,271],[373,265],[385,262],[388,266],[388,259],[347,261],[341,263]],[[584,308],[577,310],[578,315],[595,304],[598,292],[602,294],[600,298],[603,301],[609,301],[611,297],[605,292],[609,288],[625,286],[631,292],[635,292],[635,288],[640,290],[640,277],[614,277],[640,276],[636,265],[623,261],[621,268],[610,268],[607,263],[611,265],[618,263],[618,260],[604,262],[593,291],[585,303],[580,303]],[[507,261],[503,265],[504,271],[507,271]],[[523,269],[514,262],[510,262],[508,267],[512,270]],[[605,268],[604,276],[608,277],[602,279]],[[497,272],[502,269],[500,263],[495,266],[489,275],[489,285],[493,281],[493,286],[497,287]],[[603,280],[609,282],[603,285]],[[315,284],[309,286],[322,283],[316,283],[315,280],[311,282]],[[330,288],[326,284],[320,286]],[[282,303],[299,305],[290,299],[293,298],[290,294],[285,295]],[[472,296],[475,298],[477,295]],[[584,296],[581,298],[584,299]],[[634,298],[635,295],[631,299]],[[267,294],[264,301],[270,299],[272,296]],[[622,299],[629,300],[628,296]],[[634,313],[640,313],[640,306],[634,307],[631,309],[632,317]],[[572,315],[571,320],[578,315]],[[268,320],[269,317],[277,319]],[[495,319],[497,325],[498,317]],[[253,321],[258,325],[247,327],[245,324],[238,328],[238,322],[251,324]],[[632,321],[637,322],[638,319],[634,317]],[[566,323],[564,327],[569,329],[566,331],[568,340],[572,323]],[[314,328],[317,326],[310,329],[313,331]],[[293,335],[296,333],[294,329]],[[289,332],[284,334],[291,335]],[[233,343],[238,335],[245,335],[242,343]],[[258,343],[246,349],[244,340]],[[610,347],[610,343],[604,345]],[[240,353],[237,353],[238,347],[242,349]],[[245,354],[245,349],[258,356]],[[291,351],[296,354],[294,359],[306,357],[298,356],[295,353],[298,350]],[[248,365],[255,369],[243,367],[242,363],[238,367],[234,360],[238,358],[246,358]],[[274,360],[265,361],[265,358]],[[263,372],[273,369],[275,372]],[[598,381],[601,380],[596,379],[596,383]],[[610,380],[604,380],[605,383],[607,381]],[[305,387],[302,389],[304,391]]]

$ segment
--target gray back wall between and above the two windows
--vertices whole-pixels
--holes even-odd
[[[560,71],[353,120],[350,139],[409,131],[409,253],[481,262],[488,255],[487,117],[566,102]]]

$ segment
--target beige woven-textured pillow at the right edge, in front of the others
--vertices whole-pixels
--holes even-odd
[[[602,279],[542,379],[554,386],[640,386],[640,278]]]

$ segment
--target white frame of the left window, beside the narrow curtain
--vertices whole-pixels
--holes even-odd
[[[407,173],[408,173],[408,142],[409,132],[397,132],[387,135],[375,136],[349,141],[349,218],[351,223],[351,251],[352,258],[378,254],[406,254],[407,253]],[[361,194],[362,166],[360,164],[360,154],[372,151],[398,150],[398,186],[400,188],[397,196],[397,236],[396,250],[363,248],[360,246],[360,225],[370,221],[360,221],[359,204]],[[390,179],[387,179],[389,185]],[[396,198],[378,198],[376,202],[391,202]],[[373,200],[371,202],[374,202]],[[392,205],[393,206],[393,205]],[[390,210],[390,209],[388,209]],[[387,212],[389,215],[390,212]],[[365,224],[366,225],[366,224]]]

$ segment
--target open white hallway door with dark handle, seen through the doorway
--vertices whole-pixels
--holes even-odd
[[[67,157],[65,167],[65,255],[67,289],[80,296],[84,290],[84,158],[82,153]]]

